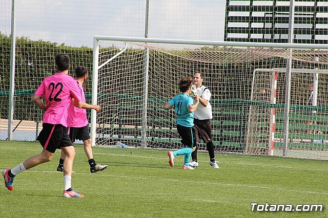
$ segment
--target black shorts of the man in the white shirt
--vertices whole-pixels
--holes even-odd
[[[197,142],[200,142],[200,139],[202,139],[204,143],[213,141],[211,120],[198,120],[194,118],[194,126],[196,129]]]

